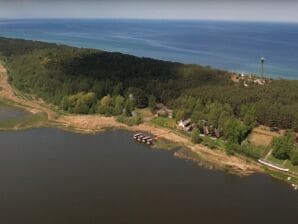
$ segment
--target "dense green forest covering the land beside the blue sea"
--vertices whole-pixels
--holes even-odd
[[[118,115],[154,98],[175,109],[176,119],[207,120],[219,128],[243,123],[243,132],[256,122],[298,131],[294,80],[245,88],[229,72],[209,67],[7,38],[0,38],[0,57],[16,88],[71,113]]]

